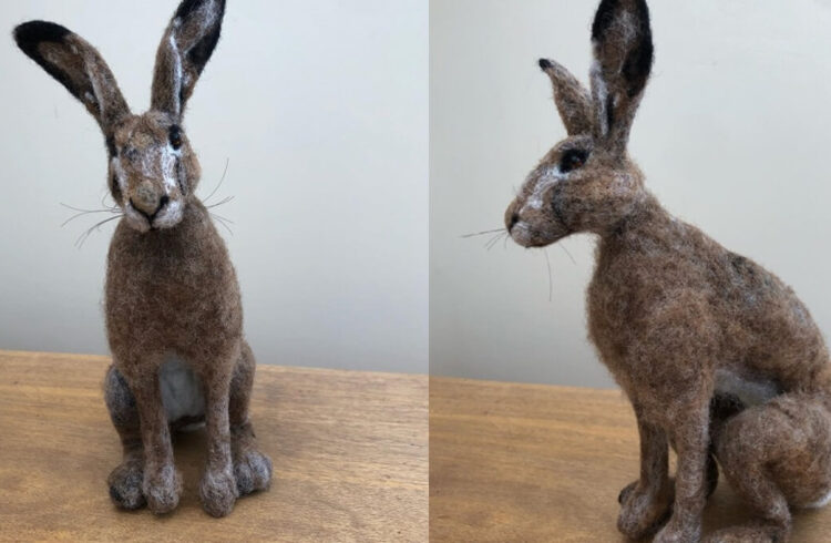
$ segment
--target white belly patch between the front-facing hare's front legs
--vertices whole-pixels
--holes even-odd
[[[167,421],[175,422],[183,417],[201,418],[205,414],[205,395],[202,382],[191,367],[176,355],[167,355],[158,371]]]

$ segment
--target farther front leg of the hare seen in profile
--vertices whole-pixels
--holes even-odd
[[[668,447],[664,430],[644,420],[635,408],[640,434],[640,478],[620,491],[617,529],[639,540],[666,522],[673,504],[673,483],[668,475]]]

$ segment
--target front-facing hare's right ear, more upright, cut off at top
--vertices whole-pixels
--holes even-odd
[[[151,105],[181,120],[196,80],[219,41],[225,0],[183,0],[156,53]]]

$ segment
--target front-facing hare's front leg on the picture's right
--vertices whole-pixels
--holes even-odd
[[[233,362],[222,360],[204,377],[207,464],[199,484],[199,496],[212,516],[225,516],[239,495],[230,455],[228,402]]]

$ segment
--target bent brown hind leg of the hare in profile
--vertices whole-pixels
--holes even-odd
[[[727,421],[716,454],[730,485],[759,519],[707,541],[786,541],[790,508],[820,505],[831,491],[831,414],[818,397],[780,396]]]

